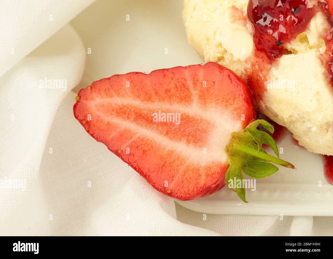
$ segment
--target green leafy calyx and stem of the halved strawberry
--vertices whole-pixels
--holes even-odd
[[[226,146],[227,163],[229,164],[225,174],[225,184],[227,186],[234,180],[241,180],[243,183],[242,172],[254,179],[265,178],[275,174],[279,169],[271,163],[295,169],[293,164],[279,158],[275,140],[267,132],[258,130],[259,124],[270,133],[274,132],[274,127],[267,121],[255,120],[251,121],[242,132],[232,134],[231,140]],[[277,157],[267,154],[262,148],[263,144],[268,145]],[[232,186],[230,189],[237,193],[242,201],[247,202],[245,199],[245,188],[243,186],[237,188],[237,186]]]

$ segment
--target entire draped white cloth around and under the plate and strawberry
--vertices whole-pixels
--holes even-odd
[[[71,89],[86,73],[87,47],[67,23],[93,0],[0,3],[0,180],[26,183],[26,190],[0,188],[0,235],[333,233],[332,217],[203,220],[115,163],[119,158],[73,116]],[[43,88],[45,78],[66,80],[67,87]]]

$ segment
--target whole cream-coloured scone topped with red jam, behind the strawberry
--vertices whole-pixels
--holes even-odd
[[[185,0],[189,43],[246,80],[256,109],[333,155],[332,1]]]

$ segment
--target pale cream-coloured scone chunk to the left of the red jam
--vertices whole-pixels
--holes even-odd
[[[243,79],[254,43],[246,18],[248,0],[185,0],[183,21],[188,42],[204,62],[216,62]]]

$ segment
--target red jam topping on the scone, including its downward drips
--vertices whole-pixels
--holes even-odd
[[[318,2],[312,8],[306,8],[303,0],[249,1],[247,17],[254,28],[255,50],[245,70],[257,109],[266,90],[266,75],[271,66],[282,55],[291,54],[284,48],[285,45],[306,31],[312,17],[319,11],[327,17],[332,27],[323,35],[326,51],[322,63],[333,81],[333,16],[326,3]]]

